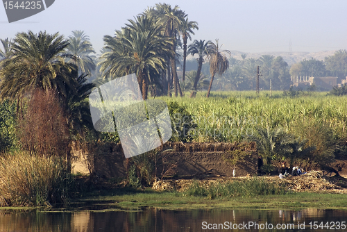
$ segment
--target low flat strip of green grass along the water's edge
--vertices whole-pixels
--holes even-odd
[[[330,192],[292,192],[283,195],[235,197],[232,199],[206,199],[189,197],[179,192],[115,192],[115,195],[75,199],[69,210],[167,210],[190,209],[303,209],[329,208],[347,210],[347,195]]]

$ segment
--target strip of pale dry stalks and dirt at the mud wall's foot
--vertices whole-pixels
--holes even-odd
[[[214,183],[223,183],[226,181],[242,181],[252,178],[251,176],[230,178],[227,176],[207,177],[206,179],[180,179],[164,180],[153,183],[153,190],[157,191],[178,191],[184,192],[194,181],[198,181],[201,186],[208,187]],[[294,192],[341,192],[347,193],[347,179],[343,176],[324,176],[321,171],[311,171],[301,176],[288,176],[280,179],[278,176],[263,176],[267,181],[285,184],[289,190]]]

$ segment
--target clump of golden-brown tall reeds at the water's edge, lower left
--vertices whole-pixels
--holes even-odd
[[[72,179],[58,157],[8,154],[0,158],[1,206],[51,206],[69,199]]]

